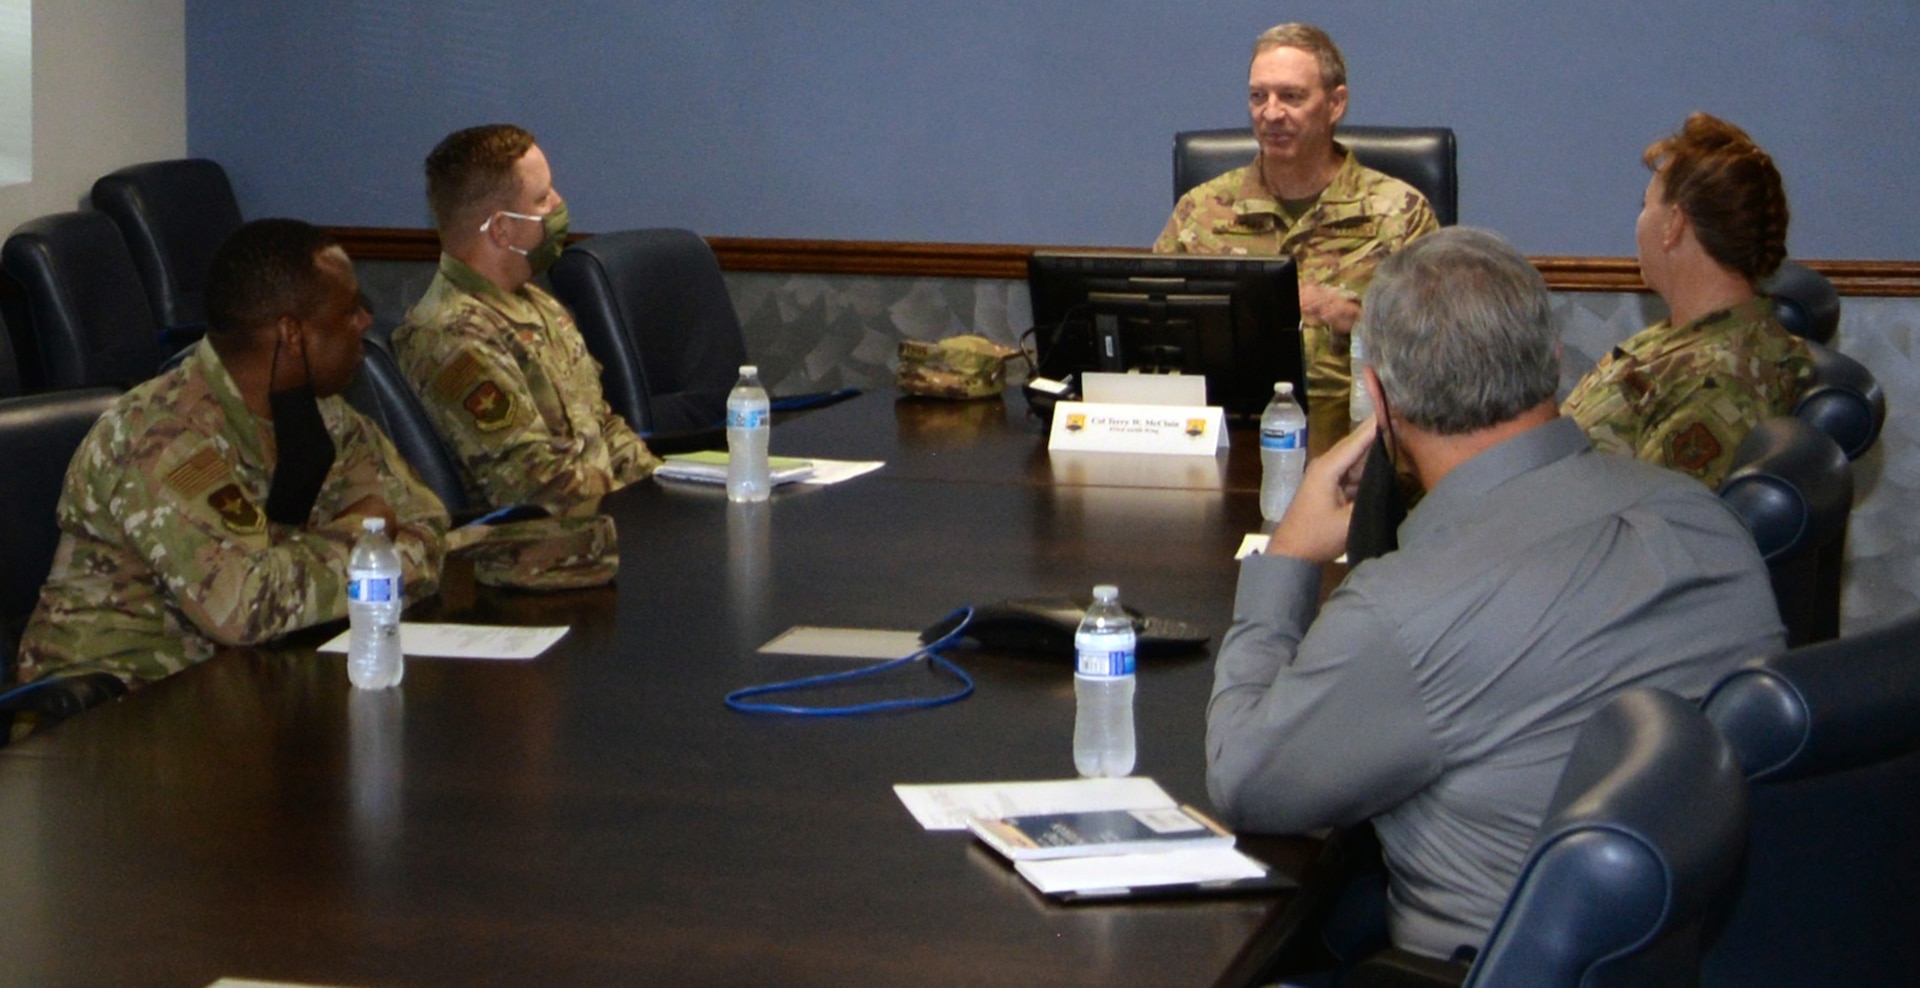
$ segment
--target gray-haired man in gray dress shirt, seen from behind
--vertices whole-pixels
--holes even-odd
[[[1594,710],[1699,696],[1786,635],[1718,497],[1559,416],[1548,290],[1511,246],[1430,234],[1382,261],[1363,311],[1379,432],[1427,497],[1317,606],[1377,428],[1308,466],[1240,568],[1208,788],[1248,831],[1373,819],[1394,942],[1448,957],[1484,942]]]

